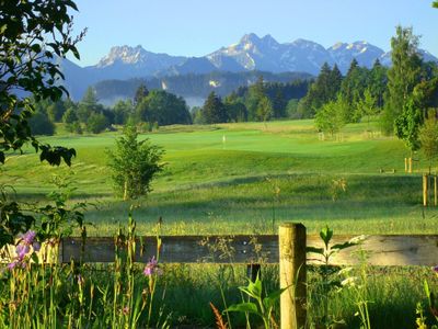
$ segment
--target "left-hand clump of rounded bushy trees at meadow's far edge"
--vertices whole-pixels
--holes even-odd
[[[113,107],[99,103],[93,88],[79,102],[70,99],[41,100],[34,104],[30,126],[35,135],[53,135],[55,123],[64,123],[70,133],[99,134],[112,125],[135,122],[143,131],[171,124],[191,124],[192,116],[183,98],[163,90],[149,91],[141,84],[134,99],[119,100]]]

